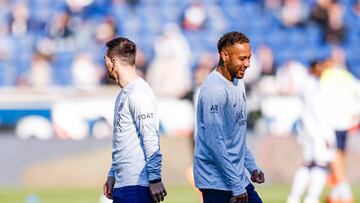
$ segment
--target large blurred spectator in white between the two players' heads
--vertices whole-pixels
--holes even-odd
[[[181,97],[191,88],[191,50],[179,27],[166,25],[154,44],[146,79],[158,96]]]

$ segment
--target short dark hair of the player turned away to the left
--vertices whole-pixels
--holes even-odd
[[[125,37],[118,37],[106,43],[108,57],[117,57],[121,61],[135,65],[136,44]]]

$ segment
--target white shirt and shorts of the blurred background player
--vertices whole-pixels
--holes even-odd
[[[303,146],[304,161],[327,166],[334,158],[336,139],[319,79],[309,75],[300,96],[303,103],[303,131],[300,133],[300,142]]]

